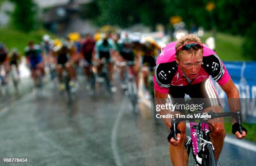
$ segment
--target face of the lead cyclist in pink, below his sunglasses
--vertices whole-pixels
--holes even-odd
[[[197,78],[202,65],[202,51],[191,51],[190,53],[182,53],[179,60],[175,57],[176,62],[180,66],[182,72],[189,79]]]

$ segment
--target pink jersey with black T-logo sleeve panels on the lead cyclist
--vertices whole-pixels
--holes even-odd
[[[177,42],[172,42],[167,44],[156,60],[156,72],[154,76],[156,91],[160,93],[169,93],[169,87],[171,85],[187,86],[201,83],[209,78],[210,75],[220,86],[228,82],[230,75],[223,62],[213,50],[206,45],[203,45],[202,66],[197,78],[189,83],[182,73],[182,70],[180,70],[179,65],[174,60],[176,43]]]

